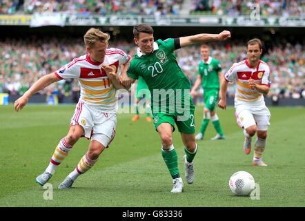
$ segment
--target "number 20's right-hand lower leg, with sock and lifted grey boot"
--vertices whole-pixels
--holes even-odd
[[[193,184],[195,180],[194,157],[197,153],[197,144],[195,142],[195,133],[181,133],[182,141],[184,142],[184,166],[186,167],[186,182]]]

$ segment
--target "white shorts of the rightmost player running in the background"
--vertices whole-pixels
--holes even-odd
[[[261,115],[262,113],[264,115]],[[266,106],[262,107],[262,112],[260,113],[253,113],[251,108],[236,108],[235,117],[237,124],[241,128],[248,128],[256,124],[257,131],[268,131],[268,126],[270,125],[270,112]]]

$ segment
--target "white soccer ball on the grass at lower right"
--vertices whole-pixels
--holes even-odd
[[[249,195],[255,188],[255,182],[250,173],[238,171],[230,177],[229,186],[235,195]]]

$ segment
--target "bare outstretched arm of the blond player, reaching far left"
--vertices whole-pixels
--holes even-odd
[[[14,102],[14,109],[15,111],[22,110],[24,106],[28,103],[28,99],[30,96],[33,94],[39,92],[39,90],[42,90],[43,88],[46,88],[50,84],[59,81],[60,78],[55,75],[55,73],[45,75],[41,77],[38,81],[35,82],[27,91],[24,93],[21,97],[19,97],[15,102]]]

